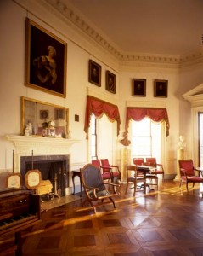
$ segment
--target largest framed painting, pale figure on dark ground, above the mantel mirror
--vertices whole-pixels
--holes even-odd
[[[67,44],[34,21],[25,22],[25,86],[65,97]]]

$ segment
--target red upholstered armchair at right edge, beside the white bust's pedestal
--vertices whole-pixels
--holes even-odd
[[[180,167],[180,186],[182,182],[186,182],[186,188],[189,190],[188,184],[193,183],[203,183],[203,178],[195,176],[195,169],[193,166],[193,160],[179,160]]]

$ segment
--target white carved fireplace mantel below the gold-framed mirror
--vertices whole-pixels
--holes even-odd
[[[80,140],[39,136],[7,135],[14,144],[14,170],[20,170],[20,156],[70,154],[70,147]]]

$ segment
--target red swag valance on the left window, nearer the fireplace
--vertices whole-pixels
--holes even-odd
[[[102,115],[105,113],[112,122],[117,121],[117,135],[119,134],[121,119],[120,119],[118,107],[116,105],[113,105],[109,102],[104,102],[93,96],[87,96],[85,127],[84,127],[84,131],[86,133],[88,132],[88,127],[90,126],[90,117],[92,113],[97,118],[101,118]]]

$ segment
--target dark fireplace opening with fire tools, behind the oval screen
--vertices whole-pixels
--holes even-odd
[[[50,180],[55,194],[60,189],[61,196],[65,196],[65,188],[69,187],[69,155],[21,156],[20,174],[24,187],[25,174],[32,169],[41,172],[42,180]]]

